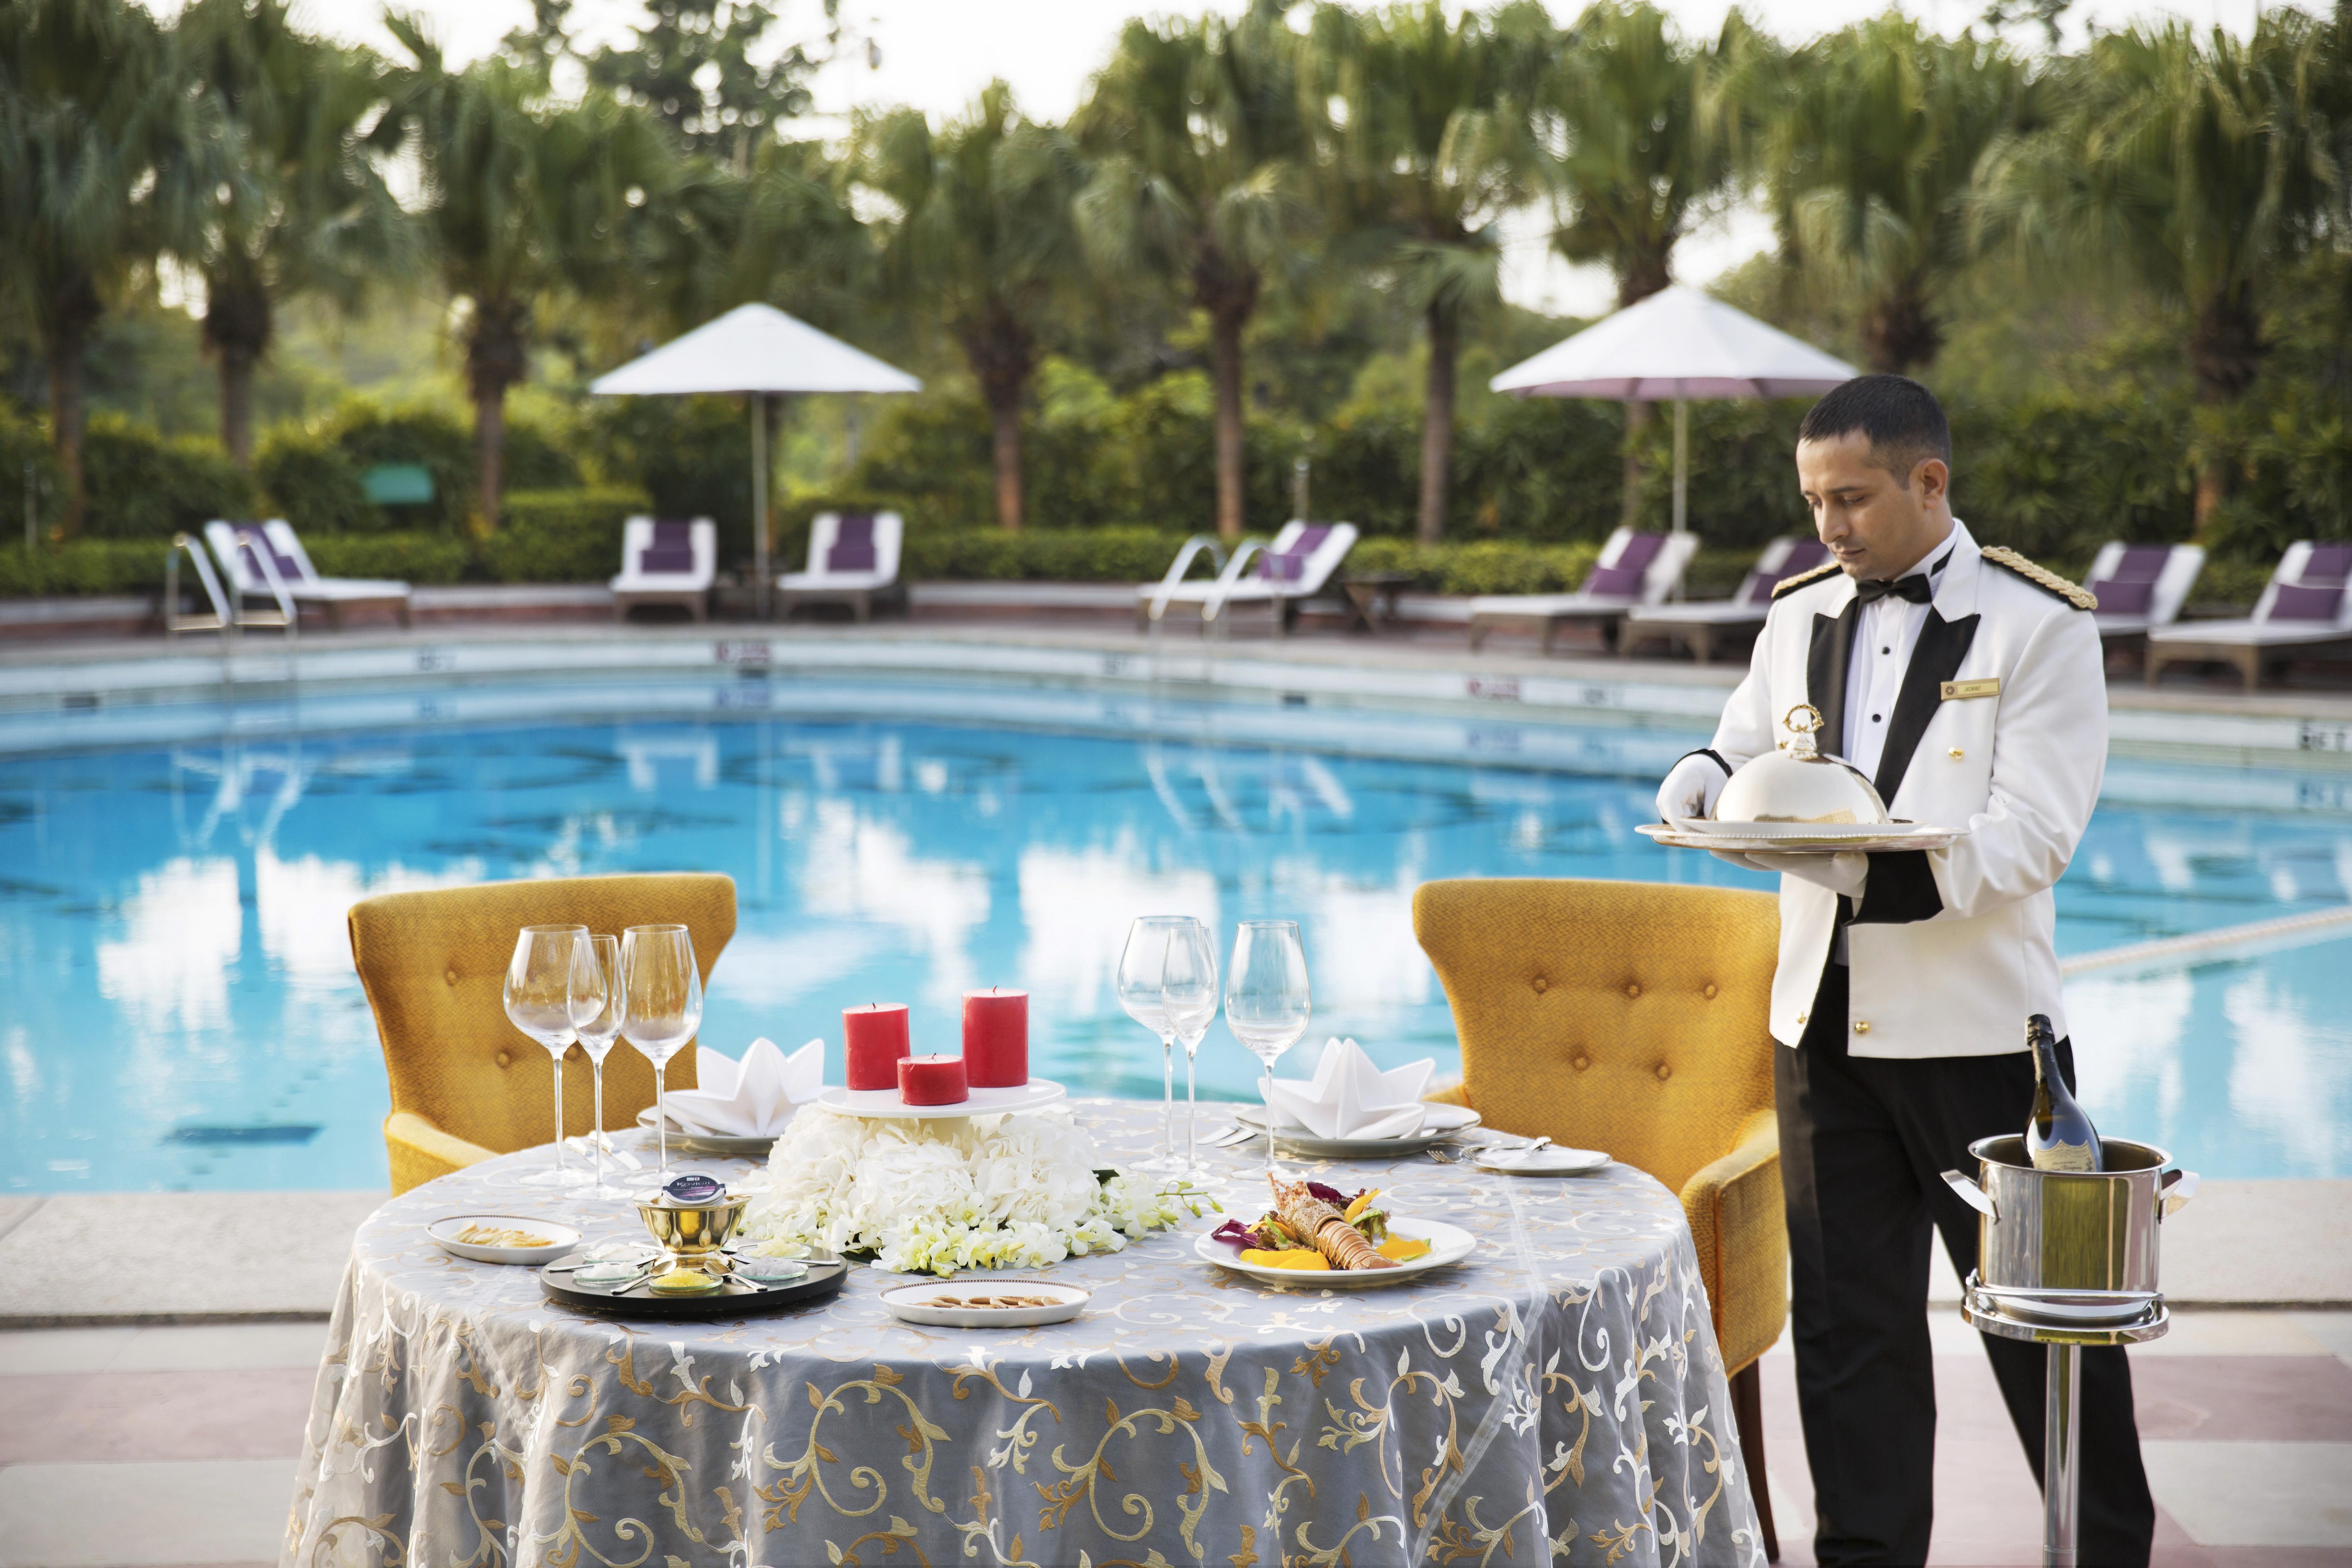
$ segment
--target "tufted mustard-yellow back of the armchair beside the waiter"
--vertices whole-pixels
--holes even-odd
[[[1489,1126],[1606,1150],[1682,1192],[1771,1112],[1769,893],[1461,879],[1414,893]]]

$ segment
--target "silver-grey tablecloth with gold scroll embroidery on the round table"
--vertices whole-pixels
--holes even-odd
[[[1160,1107],[1077,1103],[1112,1159]],[[809,1112],[814,1114],[814,1112]],[[1263,1204],[1263,1145],[1209,1154]],[[642,1234],[508,1154],[353,1244],[285,1563],[1762,1563],[1682,1206],[1611,1166],[1284,1161],[1479,1239],[1416,1284],[1270,1291],[1192,1255],[1216,1218],[1049,1274],[1049,1328],[913,1328],[854,1269],[826,1305],[628,1324],[449,1258],[447,1213]],[[755,1166],[696,1159],[743,1180]]]

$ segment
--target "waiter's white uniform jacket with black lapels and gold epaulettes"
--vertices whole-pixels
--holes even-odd
[[[2027,1013],[2067,1034],[2051,945],[2051,884],[2074,856],[2107,769],[2098,625],[2056,585],[1983,557],[1952,524],[1879,762],[1896,818],[1966,827],[1950,849],[1870,856],[1860,900],[1780,877],[1771,1032],[1804,1034],[1830,945],[1846,924],[1853,1056],[1994,1056],[2025,1048]],[[1820,710],[1823,750],[1846,733],[1846,663],[1860,602],[1844,571],[1773,599],[1715,752],[1738,769]],[[1849,924],[1851,922],[1851,924]]]

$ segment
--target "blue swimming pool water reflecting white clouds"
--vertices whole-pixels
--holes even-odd
[[[1110,985],[1134,914],[1195,912],[1225,940],[1298,917],[1310,1044],[1451,1070],[1416,884],[1762,884],[1632,832],[1698,743],[1670,731],[938,689],[790,710],[727,682],[600,703],[393,693],[0,757],[0,1190],[381,1185],[383,1065],[343,933],[379,891],[724,870],[741,924],[706,1044],[790,1048],[837,1037],[844,1004],[906,999],[917,1048],[953,1048],[962,990],[1023,985],[1040,1072],[1155,1095],[1157,1044]],[[2060,950],[2345,905],[2347,795],[2343,776],[2117,764],[2058,889]],[[2110,1131],[2206,1175],[2352,1173],[2352,931],[2082,976],[2070,1011]],[[1204,1093],[1251,1079],[1218,1025]]]

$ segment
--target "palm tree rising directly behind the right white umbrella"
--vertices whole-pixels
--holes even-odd
[[[1675,244],[1736,174],[1738,113],[1724,61],[1740,52],[1738,12],[1717,45],[1691,47],[1649,0],[1597,0],[1569,28],[1534,94],[1536,167],[1552,197],[1552,249],[1599,261],[1618,310],[1675,277]],[[1625,522],[1642,489],[1639,435],[1651,404],[1625,404]]]

